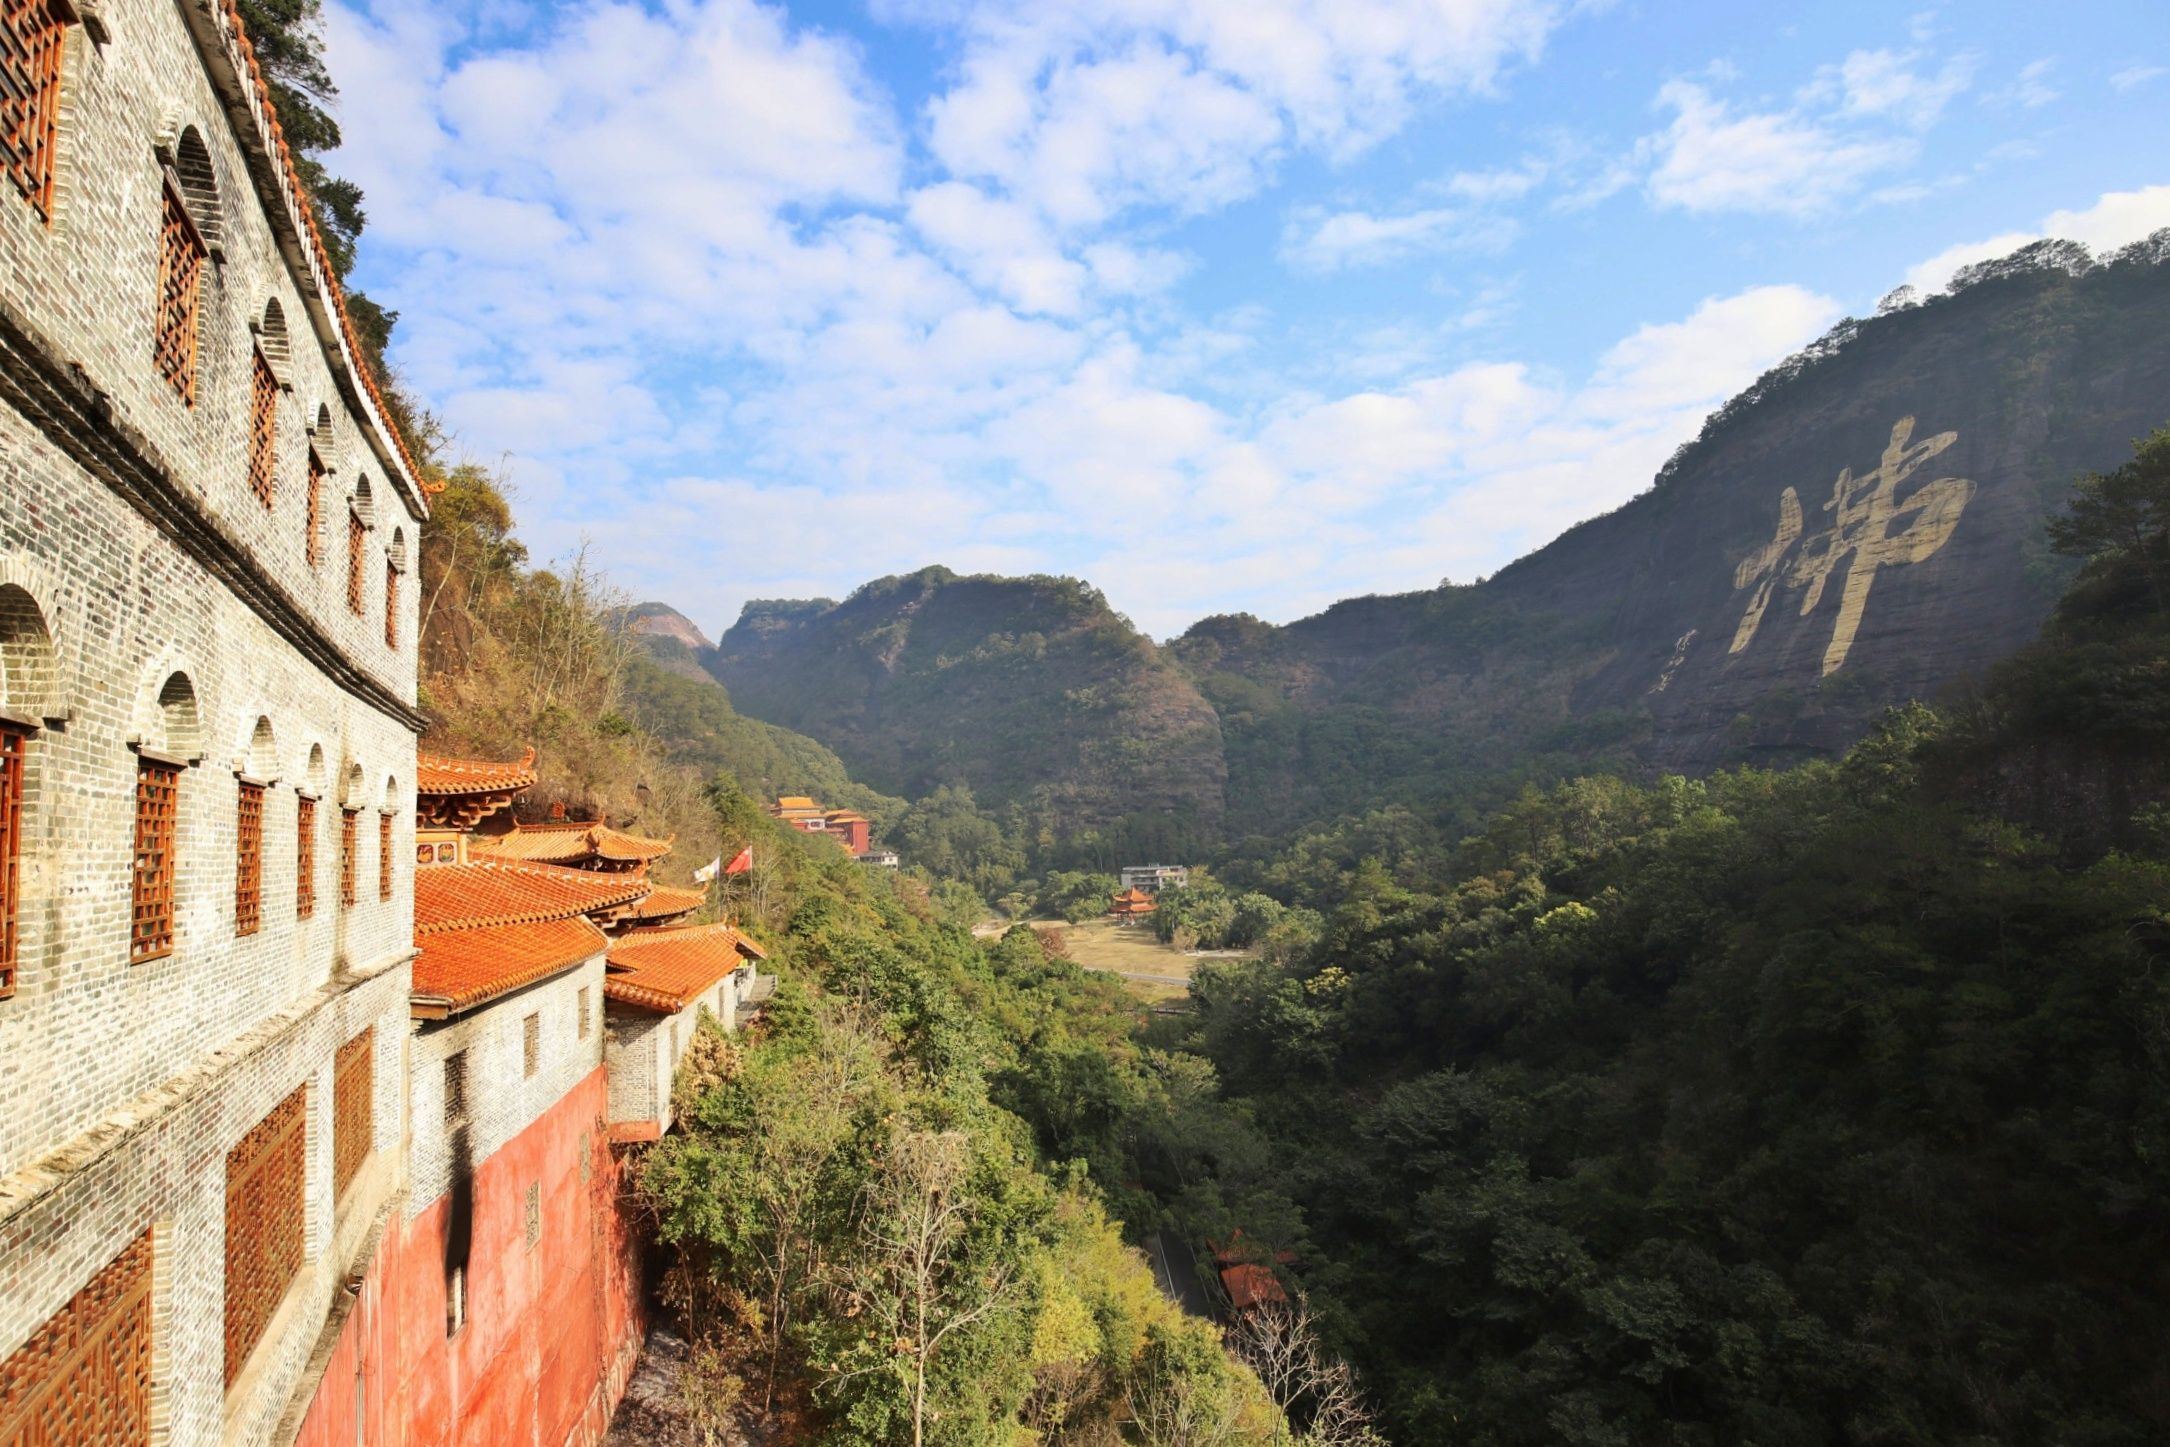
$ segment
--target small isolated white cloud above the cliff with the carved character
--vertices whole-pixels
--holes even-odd
[[[1654,137],[1649,195],[1684,210],[1814,215],[1914,154],[1903,141],[1849,137],[1790,111],[1736,115],[1690,80],[1667,82],[1658,104],[1673,124]]]

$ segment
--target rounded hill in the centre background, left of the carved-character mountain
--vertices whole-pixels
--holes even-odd
[[[842,603],[749,603],[705,664],[877,790],[963,783],[1065,833],[1133,816],[1220,829],[1213,707],[1074,579],[927,568]]]

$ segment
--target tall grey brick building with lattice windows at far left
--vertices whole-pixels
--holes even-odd
[[[425,510],[230,11],[0,0],[0,1443],[271,1440],[397,1193]]]

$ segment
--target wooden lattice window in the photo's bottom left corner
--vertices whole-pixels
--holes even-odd
[[[150,1232],[0,1362],[0,1443],[150,1443]]]

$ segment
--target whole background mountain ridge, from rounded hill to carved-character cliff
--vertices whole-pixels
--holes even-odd
[[[746,605],[692,651],[877,787],[1039,801],[1037,833],[1165,811],[1272,837],[1378,805],[1476,827],[1586,768],[1836,757],[1886,705],[2027,642],[2070,477],[2170,397],[2170,236],[2042,243],[1773,369],[1654,486],[1489,581],[1154,649],[1070,579],[929,568]]]

